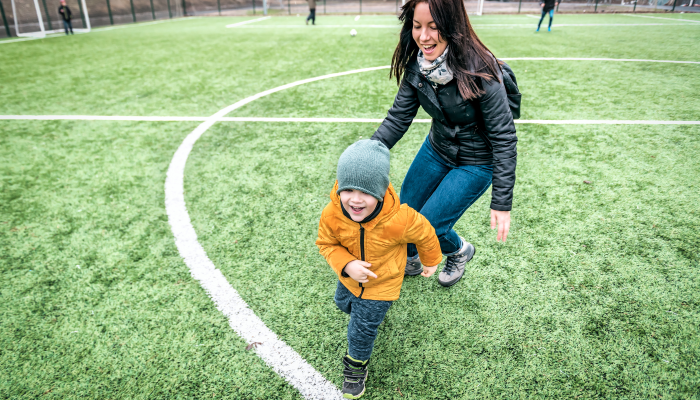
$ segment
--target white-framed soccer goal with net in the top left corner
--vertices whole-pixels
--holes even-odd
[[[63,18],[58,5],[48,8],[46,0],[11,0],[15,33],[19,37],[44,37],[63,32]],[[53,1],[51,2],[54,3]],[[71,10],[74,32],[90,31],[90,16],[85,0],[66,0]]]

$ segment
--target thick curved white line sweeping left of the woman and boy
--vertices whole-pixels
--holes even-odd
[[[306,399],[341,399],[342,395],[338,388],[327,381],[306,360],[301,358],[294,349],[281,341],[248,308],[246,302],[226,280],[226,277],[207,257],[206,251],[197,241],[197,233],[187,212],[184,194],[185,164],[194,144],[204,132],[214,125],[218,119],[237,108],[269,94],[305,83],[386,68],[363,68],[303,79],[247,97],[218,111],[187,135],[173,155],[165,179],[165,210],[168,214],[168,222],[175,236],[175,245],[185,264],[190,268],[192,277],[199,281],[204,290],[211,296],[219,311],[226,315],[231,328],[248,344],[261,343],[255,349],[260,358],[289,384],[294,386]]]

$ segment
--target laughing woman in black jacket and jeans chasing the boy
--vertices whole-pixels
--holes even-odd
[[[518,138],[501,69],[474,33],[462,0],[409,0],[401,10],[391,66],[399,92],[372,139],[391,149],[419,106],[432,117],[400,198],[435,228],[447,256],[438,282],[448,287],[475,252],[452,227],[491,184],[491,228],[498,226],[496,240],[508,237]],[[405,273],[421,271],[409,244]]]

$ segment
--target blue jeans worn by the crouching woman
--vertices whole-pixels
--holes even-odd
[[[440,240],[442,254],[450,256],[462,244],[452,227],[489,188],[492,176],[493,165],[458,167],[446,162],[425,138],[401,185],[401,203],[428,219]],[[409,244],[408,256],[417,254],[416,246]]]

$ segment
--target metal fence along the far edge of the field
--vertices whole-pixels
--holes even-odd
[[[262,15],[263,0],[86,0],[82,10],[78,0],[67,0],[73,12],[73,26],[84,28],[85,19],[92,27],[129,24],[199,15]],[[37,7],[45,30],[63,29],[58,14],[59,0],[0,0],[4,29],[0,37],[17,36],[15,19],[20,32],[38,31]],[[477,12],[477,1],[465,2],[467,12]],[[700,11],[700,0],[565,0],[559,12],[664,12]],[[397,14],[401,0],[317,0],[316,14]],[[269,15],[304,15],[309,12],[305,0],[267,0]],[[539,0],[485,1],[484,14],[539,14]],[[16,14],[16,15],[15,15]]]

